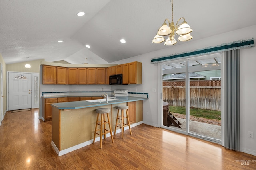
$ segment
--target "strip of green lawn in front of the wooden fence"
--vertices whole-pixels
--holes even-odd
[[[182,106],[169,106],[170,112],[186,114],[186,108]],[[220,111],[216,110],[208,110],[208,109],[198,109],[198,108],[190,108],[190,115],[197,117],[204,117],[207,119],[217,119],[220,120]]]

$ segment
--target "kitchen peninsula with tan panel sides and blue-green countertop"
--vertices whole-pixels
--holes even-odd
[[[52,146],[58,156],[72,152],[93,140],[97,114],[95,109],[109,108],[111,126],[114,129],[117,109],[116,106],[129,106],[131,127],[142,123],[142,101],[148,95],[139,97],[126,96],[110,98],[110,101],[84,100],[76,102],[54,103],[52,105]],[[120,132],[120,129],[118,129]],[[109,134],[110,135],[110,134]],[[107,135],[108,137],[108,135]],[[99,139],[97,138],[96,141]]]

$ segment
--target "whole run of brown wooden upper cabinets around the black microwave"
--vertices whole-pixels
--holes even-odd
[[[109,76],[123,74],[123,84],[142,84],[142,63],[108,68],[66,68],[43,65],[43,84],[109,84]]]

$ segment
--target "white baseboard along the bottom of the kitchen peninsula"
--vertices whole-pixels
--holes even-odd
[[[135,126],[138,126],[138,125],[140,125],[142,123],[143,123],[143,121],[140,121],[140,122],[137,122],[137,123],[133,123],[131,125],[131,128],[135,127]],[[127,129],[129,129],[128,126],[124,127],[124,131],[127,130]],[[116,130],[116,133],[120,133],[120,132],[121,132],[121,129]],[[112,134],[114,135],[114,132],[112,132]],[[110,137],[110,133],[106,134],[106,137]],[[104,135],[103,135],[103,139],[104,139]],[[100,141],[100,137],[96,137],[95,138],[95,142],[97,142],[97,141]],[[55,152],[58,154],[58,156],[62,156],[64,154],[67,154],[67,153],[72,152],[74,150],[77,150],[77,149],[80,149],[80,148],[85,147],[87,145],[90,145],[90,144],[92,144],[92,142],[93,142],[93,139],[91,139],[89,141],[86,141],[86,142],[83,142],[83,143],[80,143],[78,145],[75,145],[73,147],[61,150],[61,151],[58,150],[58,148],[56,147],[56,145],[55,145],[55,143],[53,141],[51,142],[51,144],[52,144],[52,147],[55,150]]]

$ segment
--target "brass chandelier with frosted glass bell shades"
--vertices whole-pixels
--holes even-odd
[[[190,33],[193,30],[187,24],[184,17],[180,18],[177,21],[176,25],[174,25],[174,22],[173,22],[173,0],[171,0],[171,2],[172,2],[172,22],[170,23],[170,21],[168,19],[164,20],[162,27],[160,27],[158,29],[158,32],[157,32],[156,36],[154,37],[154,39],[152,40],[152,43],[162,43],[165,41],[163,36],[168,35],[168,38],[164,42],[164,45],[174,45],[177,43],[177,41],[174,38],[174,36],[175,36],[174,33],[176,33],[176,35],[180,35],[180,37],[178,37],[178,41],[188,41],[193,38],[190,35]],[[178,25],[178,22],[180,20],[184,20],[184,21]],[[168,21],[168,25],[167,25],[166,21]]]

